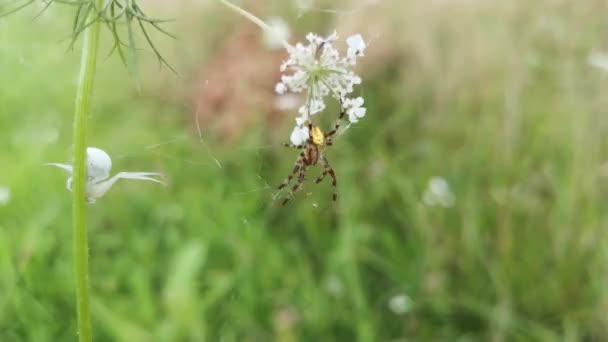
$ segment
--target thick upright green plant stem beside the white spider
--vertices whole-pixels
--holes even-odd
[[[97,0],[101,8],[103,0]],[[95,15],[91,11],[90,18]],[[76,89],[76,109],[74,113],[74,174],[73,174],[73,233],[74,233],[74,270],[76,274],[76,306],[78,318],[78,338],[81,342],[91,341],[91,318],[89,310],[89,241],[87,237],[87,117],[91,109],[91,97],[99,32],[101,23],[96,21],[83,32],[80,74]]]

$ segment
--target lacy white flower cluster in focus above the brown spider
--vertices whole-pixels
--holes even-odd
[[[307,45],[298,43],[287,48],[289,58],[281,65],[281,72],[289,74],[283,74],[281,82],[275,87],[279,94],[307,92],[306,103],[298,110],[297,126],[304,125],[312,115],[323,111],[327,96],[340,101],[350,122],[357,122],[365,115],[363,98],[347,96],[353,92],[355,85],[361,84],[361,78],[351,69],[365,51],[363,38],[360,34],[348,37],[344,57],[334,47],[334,42],[338,40],[336,32],[326,38],[309,33],[306,40]]]

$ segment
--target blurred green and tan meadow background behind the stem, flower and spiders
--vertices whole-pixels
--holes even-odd
[[[268,114],[278,65],[254,68],[269,87],[228,77],[266,53],[244,19],[149,1],[177,18],[178,40],[156,38],[181,76],[142,52],[137,92],[116,57],[100,60],[89,145],[113,173],[170,184],[123,181],[90,208],[96,339],[608,340],[608,74],[588,62],[608,6],[312,3],[245,7],[285,18],[292,42],[336,27],[371,39],[368,115],[327,151],[336,204],[329,182],[273,201],[296,157],[281,147],[292,114]],[[36,12],[0,19],[1,341],[75,340],[66,174],[41,164],[69,162],[78,48],[66,52],[69,8]],[[214,64],[240,29],[248,45]],[[203,144],[196,106],[228,82]],[[422,201],[434,176],[452,207]]]

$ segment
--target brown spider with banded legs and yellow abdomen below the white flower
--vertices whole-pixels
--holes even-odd
[[[321,181],[323,181],[325,176],[327,176],[327,174],[329,174],[332,178],[332,187],[333,187],[332,199],[334,202],[336,201],[336,199],[338,197],[337,187],[336,187],[336,184],[337,184],[336,173],[334,172],[334,169],[331,167],[331,165],[329,165],[327,158],[325,158],[325,156],[323,155],[323,150],[324,150],[325,146],[333,145],[332,137],[338,132],[338,129],[340,128],[340,121],[342,121],[342,119],[344,118],[345,112],[346,111],[344,109],[342,109],[342,111],[340,112],[338,121],[336,122],[336,125],[334,126],[334,129],[332,129],[331,131],[329,131],[327,133],[323,133],[323,131],[321,131],[321,129],[318,126],[315,126],[312,123],[309,123],[308,124],[308,139],[306,139],[306,142],[304,144],[302,144],[302,145],[284,144],[285,147],[303,149],[303,151],[298,156],[298,159],[296,159],[296,162],[293,166],[293,170],[291,171],[289,176],[287,176],[287,178],[285,178],[283,180],[283,182],[281,182],[281,184],[279,184],[279,190],[281,190],[284,187],[288,186],[289,183],[291,183],[292,178],[296,174],[298,174],[298,179],[297,179],[295,185],[291,188],[291,192],[289,193],[289,195],[287,195],[287,197],[283,200],[283,202],[281,202],[281,205],[287,204],[287,202],[289,202],[289,200],[295,196],[296,192],[300,189],[300,187],[302,186],[302,183],[304,182],[304,179],[305,179],[304,176],[306,174],[306,169],[309,166],[316,165],[319,161],[321,161],[321,164],[323,164],[323,167],[325,168],[325,170],[323,170],[323,173],[319,177],[317,177],[317,179],[315,180],[315,183],[316,184],[321,183]]]

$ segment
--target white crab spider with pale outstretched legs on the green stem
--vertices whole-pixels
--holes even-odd
[[[62,168],[70,174],[73,172],[72,165],[68,164],[47,163],[44,165]],[[121,178],[149,180],[165,184],[163,181],[153,178],[163,176],[158,172],[119,172],[114,177],[108,179],[111,169],[112,159],[105,151],[95,147],[87,148],[87,203],[95,203],[97,199],[101,198]],[[66,188],[72,191],[72,177],[68,178]]]

